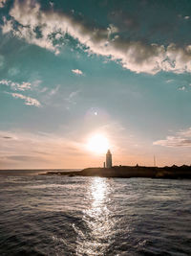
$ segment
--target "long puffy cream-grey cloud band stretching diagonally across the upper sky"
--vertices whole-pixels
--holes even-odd
[[[191,45],[180,47],[170,43],[164,46],[125,39],[112,24],[108,28],[91,27],[64,12],[53,12],[53,8],[41,10],[40,4],[32,0],[15,0],[10,15],[10,20],[4,18],[4,34],[11,32],[55,54],[60,49],[56,35],[64,38],[68,34],[83,45],[86,52],[111,58],[136,73],[191,72]]]

